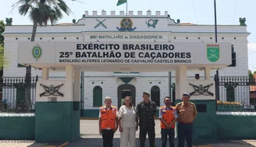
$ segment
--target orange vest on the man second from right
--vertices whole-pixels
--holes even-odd
[[[169,107],[169,110],[166,109],[166,106],[160,107],[159,111],[162,113],[162,119],[169,125],[172,123],[172,120],[175,116],[176,108],[173,106]],[[166,126],[161,122],[161,128],[166,129]],[[175,128],[175,124],[172,125],[172,129]]]

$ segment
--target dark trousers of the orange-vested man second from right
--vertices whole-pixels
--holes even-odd
[[[166,147],[167,136],[169,136],[170,147],[174,147],[174,129],[161,129],[162,147]]]

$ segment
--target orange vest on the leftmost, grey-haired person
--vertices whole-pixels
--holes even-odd
[[[101,129],[116,128],[116,117],[117,117],[116,113],[117,113],[116,106],[111,106],[110,110],[107,110],[106,106],[100,107]]]

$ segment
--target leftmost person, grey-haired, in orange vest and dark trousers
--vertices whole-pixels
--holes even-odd
[[[118,129],[117,106],[112,106],[110,96],[106,96],[105,106],[100,107],[99,133],[103,138],[103,147],[113,147],[113,135]]]

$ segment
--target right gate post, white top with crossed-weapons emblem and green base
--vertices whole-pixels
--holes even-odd
[[[205,79],[188,80],[190,101],[195,103],[198,115],[194,120],[193,140],[195,142],[215,142],[217,140],[217,118],[215,80],[210,77],[210,68],[205,67]]]

